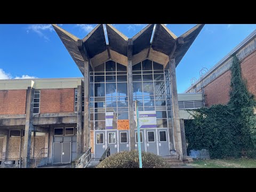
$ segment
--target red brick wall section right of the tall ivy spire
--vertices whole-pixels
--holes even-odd
[[[241,63],[242,75],[247,81],[247,89],[256,97],[256,51]]]

